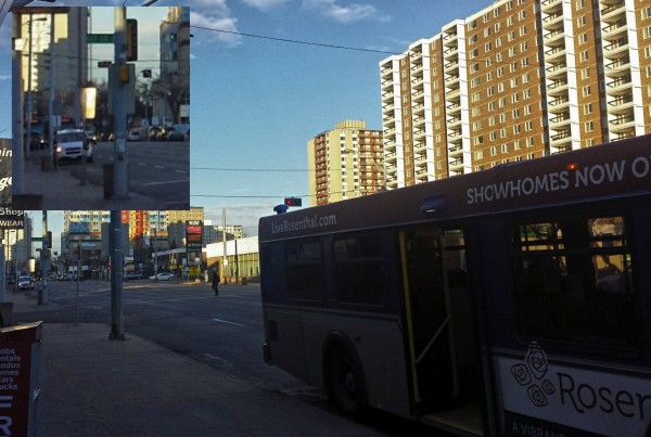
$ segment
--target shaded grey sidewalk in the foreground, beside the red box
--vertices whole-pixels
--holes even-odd
[[[56,311],[9,292],[14,323]],[[43,324],[38,436],[372,436],[376,433],[110,325]]]

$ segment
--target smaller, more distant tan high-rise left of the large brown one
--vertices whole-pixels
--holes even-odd
[[[382,132],[363,120],[344,120],[307,143],[310,205],[343,201],[384,189]]]

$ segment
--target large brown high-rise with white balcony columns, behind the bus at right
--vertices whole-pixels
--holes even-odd
[[[502,0],[380,62],[390,189],[651,131],[651,0]]]

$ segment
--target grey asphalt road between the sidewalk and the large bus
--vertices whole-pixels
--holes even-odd
[[[111,323],[108,281],[50,282],[49,285],[49,300],[56,304],[58,309],[21,313],[21,321]],[[259,287],[221,286],[220,295],[214,296],[207,284],[142,280],[125,282],[123,299],[126,336],[132,333],[248,381],[263,390],[281,391],[340,414],[328,404],[320,390],[264,363]],[[375,411],[362,423],[386,436],[447,435]]]

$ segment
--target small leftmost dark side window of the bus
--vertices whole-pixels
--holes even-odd
[[[285,242],[285,288],[291,299],[322,301],[326,296],[326,268],[319,240]]]

